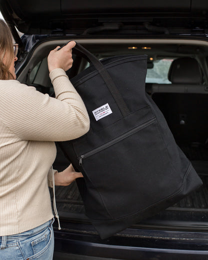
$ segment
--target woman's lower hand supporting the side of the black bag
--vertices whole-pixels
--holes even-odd
[[[54,180],[55,186],[67,186],[73,182],[76,178],[83,177],[81,172],[74,170],[72,164],[70,164],[66,169],[60,172],[55,172]]]

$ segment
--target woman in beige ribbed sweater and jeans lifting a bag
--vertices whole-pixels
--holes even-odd
[[[56,155],[54,141],[77,138],[89,129],[85,106],[65,71],[72,65],[70,41],[48,55],[56,98],[16,79],[8,26],[0,20],[0,259],[52,259],[52,210],[47,185]],[[55,172],[68,185],[80,172],[69,165]]]

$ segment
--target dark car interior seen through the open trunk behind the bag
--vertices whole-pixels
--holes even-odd
[[[29,62],[17,71],[17,79],[44,94],[54,96],[46,57],[51,49],[65,42],[66,39],[37,42]],[[77,42],[100,60],[114,55],[147,54],[146,92],[162,111],[176,143],[203,181],[199,190],[134,227],[153,225],[163,229],[200,230],[208,222],[208,42],[182,37],[77,39]],[[72,78],[89,65],[87,60],[73,54],[73,66],[66,73]],[[53,168],[60,171],[70,162],[58,143],[56,147],[57,157]],[[57,210],[63,221],[90,223],[84,214],[75,182],[66,187],[56,186],[55,194]]]

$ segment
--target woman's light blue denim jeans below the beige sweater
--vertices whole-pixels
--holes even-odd
[[[0,260],[52,260],[53,221],[20,234],[0,236]]]

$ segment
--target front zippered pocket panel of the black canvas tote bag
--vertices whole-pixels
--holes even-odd
[[[151,115],[135,126],[139,119],[130,120],[134,127],[117,136],[118,129],[123,130],[129,121],[119,122],[119,128],[112,124],[99,136],[103,135],[104,140],[107,135],[113,137],[99,142],[96,148],[77,153],[86,185],[85,212],[91,219],[134,214],[161,200],[161,191],[173,194],[178,185],[178,172],[169,158],[157,120]],[[98,134],[96,137],[93,143],[101,141]],[[92,147],[90,140],[89,145]]]

